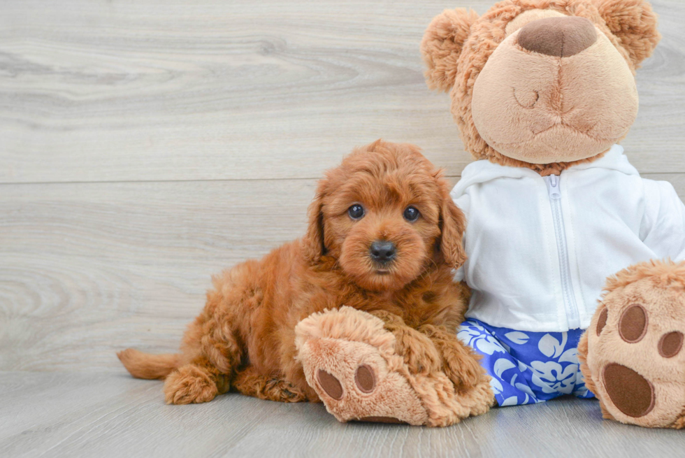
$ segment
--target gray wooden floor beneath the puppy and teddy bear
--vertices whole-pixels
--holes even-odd
[[[3,457],[668,457],[681,431],[602,420],[597,401],[507,407],[448,428],[338,423],[322,404],[240,394],[166,406],[161,382],[0,373]]]

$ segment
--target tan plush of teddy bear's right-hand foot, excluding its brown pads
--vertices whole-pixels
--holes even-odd
[[[640,305],[647,314],[644,336],[626,342],[619,327],[623,313]],[[598,328],[600,315],[605,324]],[[685,427],[685,352],[664,357],[661,338],[685,333],[685,263],[648,261],[623,269],[607,280],[605,294],[578,345],[587,387],[600,400],[603,417],[642,427]],[[654,408],[639,417],[626,415],[612,402],[603,375],[607,364],[622,364],[649,381]],[[631,384],[623,386],[630,389]],[[625,401],[623,401],[625,402]]]

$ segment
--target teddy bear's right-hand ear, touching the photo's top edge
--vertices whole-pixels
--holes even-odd
[[[658,16],[651,5],[644,0],[595,0],[595,4],[635,68],[639,68],[661,40],[656,29]]]

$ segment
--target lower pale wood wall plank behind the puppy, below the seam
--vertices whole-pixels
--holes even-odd
[[[685,174],[651,178],[685,197]],[[1,185],[0,370],[121,371],[116,350],[175,350],[210,275],[304,233],[314,186]]]

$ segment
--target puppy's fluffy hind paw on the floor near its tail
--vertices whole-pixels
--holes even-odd
[[[181,366],[164,381],[164,398],[168,404],[208,402],[218,392],[216,382],[206,371],[194,364]]]

